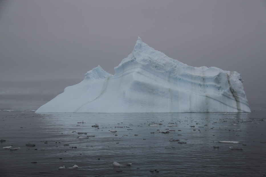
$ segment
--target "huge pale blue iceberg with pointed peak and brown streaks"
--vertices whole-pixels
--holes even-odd
[[[239,73],[188,66],[141,38],[114,69],[93,68],[36,113],[250,112]]]

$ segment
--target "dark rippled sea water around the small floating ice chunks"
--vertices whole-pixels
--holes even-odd
[[[265,115],[265,110],[233,114],[0,112],[0,139],[6,140],[0,143],[0,176],[265,176],[266,143],[260,142],[266,141]],[[96,123],[99,128],[92,127]],[[157,131],[169,129],[175,131]],[[88,135],[95,137],[77,138]],[[27,147],[27,143],[36,146]],[[21,150],[3,149],[10,145]],[[132,165],[117,172],[114,161]],[[74,165],[78,168],[58,170]],[[154,169],[159,172],[150,172]]]

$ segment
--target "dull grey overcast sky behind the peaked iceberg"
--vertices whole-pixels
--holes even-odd
[[[190,66],[237,71],[252,109],[266,108],[265,0],[1,0],[0,109],[37,109],[137,37]]]

